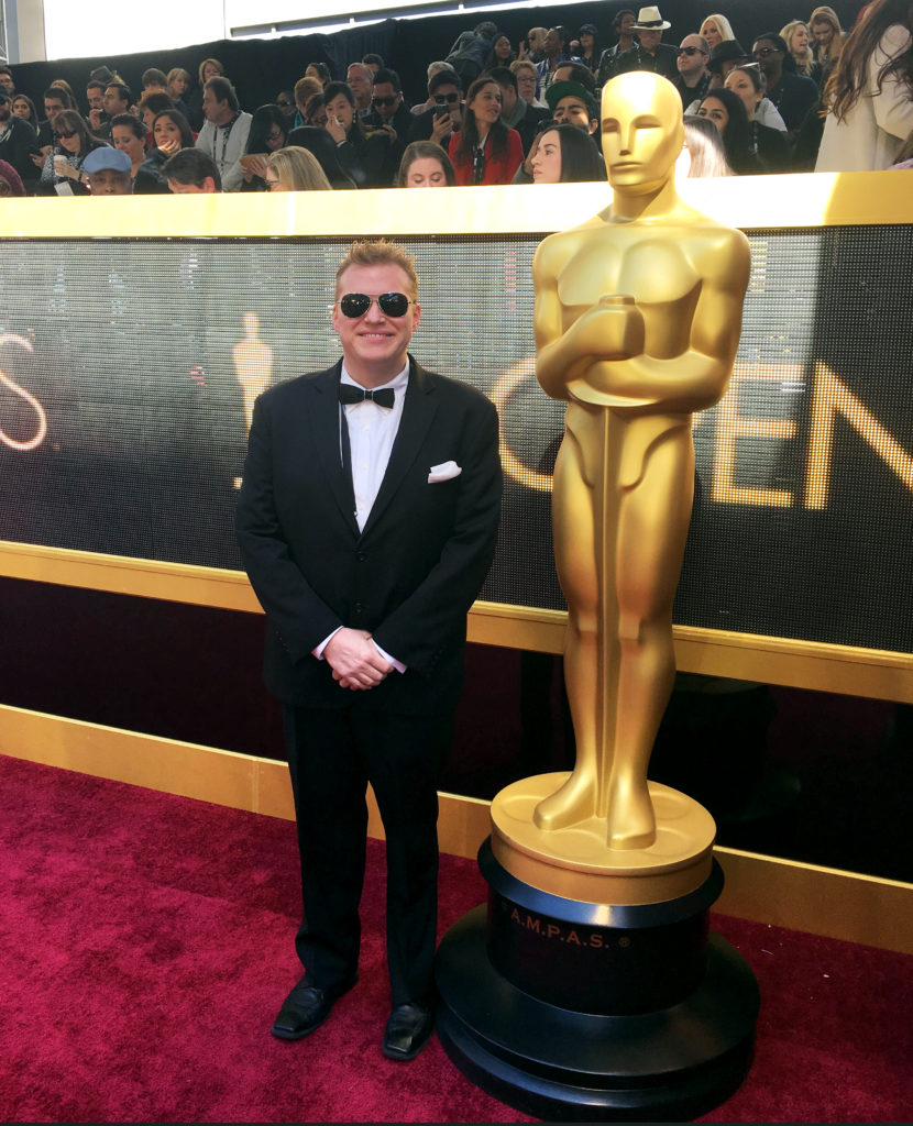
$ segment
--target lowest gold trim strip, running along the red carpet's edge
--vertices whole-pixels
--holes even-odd
[[[294,820],[285,763],[0,705],[0,754],[180,797]],[[490,804],[440,795],[442,851],[474,858]],[[369,795],[368,832],[383,839]],[[717,847],[726,875],[714,910],[913,954],[913,884]]]

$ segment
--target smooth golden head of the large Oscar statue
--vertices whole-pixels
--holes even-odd
[[[652,191],[668,180],[684,143],[681,97],[651,71],[619,74],[602,88],[602,155],[609,184]]]

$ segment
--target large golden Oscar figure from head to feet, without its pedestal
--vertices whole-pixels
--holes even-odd
[[[567,401],[555,465],[555,561],[567,600],[565,680],[578,758],[535,822],[596,815],[612,849],[656,839],[647,762],[672,691],[672,602],[691,515],[691,412],[732,373],[745,236],[675,191],[678,93],[621,75],[603,98],[611,206],[534,261],[536,376]]]

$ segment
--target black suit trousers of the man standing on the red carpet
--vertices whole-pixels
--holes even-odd
[[[308,983],[320,989],[333,989],[357,973],[370,783],[386,834],[393,1004],[404,1004],[432,992],[437,786],[454,715],[400,715],[360,704],[284,708],[304,902],[296,948]]]

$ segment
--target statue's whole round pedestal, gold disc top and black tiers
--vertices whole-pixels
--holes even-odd
[[[748,963],[708,933],[713,819],[651,783],[650,849],[608,849],[596,819],[536,829],[532,807],[566,777],[492,804],[489,903],[440,944],[438,1035],[473,1082],[539,1118],[692,1118],[748,1073],[759,1006]]]

